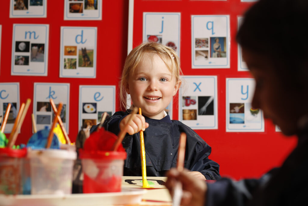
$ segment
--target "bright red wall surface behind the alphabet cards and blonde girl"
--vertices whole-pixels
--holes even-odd
[[[20,82],[20,99],[33,99],[34,82],[70,83],[70,125],[72,141],[78,133],[79,85],[116,85],[127,55],[128,0],[103,0],[101,21],[64,21],[64,1],[47,1],[47,18],[9,18],[9,0],[2,2],[0,24],[2,24],[0,82]],[[273,166],[279,166],[296,144],[295,138],[285,138],[275,132],[270,121],[265,121],[265,132],[225,132],[225,79],[250,77],[248,72],[237,71],[237,15],[241,15],[251,3],[240,0],[227,1],[158,1],[135,0],[133,46],[142,42],[143,12],[181,13],[181,67],[184,75],[217,75],[218,77],[218,130],[196,130],[212,146],[211,159],[221,166],[221,175],[235,179],[258,177]],[[190,15],[230,15],[231,61],[230,69],[191,69],[191,18]],[[14,23],[41,23],[50,25],[49,61],[47,77],[11,76],[11,47]],[[61,26],[98,27],[97,74],[95,79],[59,78],[59,51]],[[117,96],[116,96],[117,97]],[[119,98],[116,110],[119,110]],[[26,143],[32,135],[30,114],[22,125],[17,144]],[[177,119],[177,99],[173,105],[173,119]],[[8,134],[7,134],[8,135]]]

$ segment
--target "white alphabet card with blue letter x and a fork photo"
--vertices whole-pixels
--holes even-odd
[[[218,129],[217,76],[182,78],[187,88],[179,90],[179,120],[193,129]]]

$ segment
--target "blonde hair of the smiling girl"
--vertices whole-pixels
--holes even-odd
[[[126,86],[128,84],[129,74],[134,74],[140,62],[144,59],[146,53],[155,53],[164,61],[172,74],[175,77],[175,82],[180,81],[182,70],[180,68],[180,58],[176,55],[173,48],[159,44],[153,41],[146,41],[135,47],[126,57],[122,77],[120,80],[120,104],[122,109],[126,109],[127,92]],[[169,61],[170,60],[170,61]],[[171,62],[171,65],[170,65]]]

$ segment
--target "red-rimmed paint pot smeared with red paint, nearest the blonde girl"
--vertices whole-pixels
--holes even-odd
[[[120,192],[126,152],[79,150],[83,193]]]

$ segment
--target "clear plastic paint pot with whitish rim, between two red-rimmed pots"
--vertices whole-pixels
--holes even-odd
[[[64,149],[28,150],[31,194],[71,194],[77,153]]]

